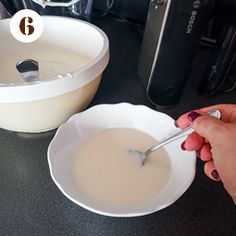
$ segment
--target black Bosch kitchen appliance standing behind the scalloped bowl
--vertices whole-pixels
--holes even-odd
[[[204,95],[235,86],[236,0],[150,1],[138,74],[153,104],[179,102],[203,30],[214,17],[220,19],[220,33],[201,78]]]

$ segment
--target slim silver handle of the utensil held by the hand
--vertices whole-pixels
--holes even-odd
[[[208,115],[210,116],[213,116],[217,119],[220,119],[221,117],[221,113],[219,110],[210,110],[207,112]],[[155,151],[156,149],[170,143],[170,142],[173,142],[179,138],[182,138],[182,137],[185,137],[189,134],[191,134],[193,132],[193,128],[190,126],[190,127],[187,127],[185,129],[182,129],[181,131],[177,132],[176,134],[174,134],[173,136],[163,140],[161,143],[159,144],[156,144],[156,145],[153,145],[152,147],[148,148],[144,153],[145,153],[145,156],[147,157],[150,153],[152,153],[153,151]]]

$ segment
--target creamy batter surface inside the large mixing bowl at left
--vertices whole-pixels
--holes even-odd
[[[49,80],[57,75],[74,72],[86,65],[91,58],[76,51],[47,43],[28,44],[20,50],[0,57],[0,83],[22,83],[16,63],[23,59],[34,59],[39,62],[39,79]]]

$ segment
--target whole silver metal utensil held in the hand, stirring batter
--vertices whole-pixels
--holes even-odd
[[[211,111],[208,111],[207,112],[208,115],[210,116],[213,116],[217,119],[220,119],[221,117],[221,113],[219,110],[211,110]],[[142,161],[142,165],[144,165],[145,161],[147,160],[148,156],[154,152],[155,150],[163,147],[164,145],[170,143],[170,142],[173,142],[179,138],[182,138],[182,137],[185,137],[189,134],[191,134],[193,132],[193,128],[192,127],[187,127],[183,130],[181,130],[180,132],[172,135],[171,137],[167,138],[167,139],[164,139],[161,143],[159,144],[155,144],[153,146],[151,146],[150,148],[148,148],[146,151],[144,152],[141,152],[141,151],[138,151],[138,150],[129,150],[129,152],[131,153],[134,153],[135,155],[137,155],[141,161]]]

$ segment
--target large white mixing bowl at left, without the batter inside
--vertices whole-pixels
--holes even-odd
[[[43,16],[42,19],[44,31],[37,43],[70,49],[89,56],[91,60],[82,67],[78,66],[78,70],[38,83],[11,83],[11,78],[9,83],[5,83],[1,82],[5,78],[0,78],[1,128],[41,132],[58,127],[91,102],[108,64],[108,38],[99,28],[71,18]],[[0,21],[3,59],[4,55],[14,52],[20,56],[30,46],[13,38],[9,24],[10,19]]]

